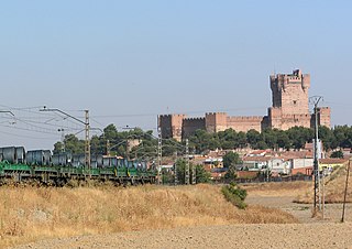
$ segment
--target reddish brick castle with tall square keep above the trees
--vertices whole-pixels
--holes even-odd
[[[270,76],[273,104],[267,116],[230,117],[226,112],[208,112],[201,118],[187,118],[186,115],[161,115],[158,127],[163,138],[178,141],[188,138],[196,130],[218,132],[232,128],[246,132],[254,129],[261,132],[265,128],[287,130],[292,127],[314,127],[315,115],[310,115],[308,89],[310,75],[299,69],[293,74],[275,74]],[[330,127],[330,108],[318,108],[319,126]]]

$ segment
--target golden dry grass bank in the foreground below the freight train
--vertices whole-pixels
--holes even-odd
[[[239,210],[212,185],[0,188],[0,247],[38,239],[239,223],[296,223],[280,210]]]

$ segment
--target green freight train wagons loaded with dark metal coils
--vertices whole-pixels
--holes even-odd
[[[0,184],[35,182],[63,186],[70,180],[111,181],[116,184],[155,183],[156,171],[144,161],[91,155],[87,167],[84,154],[52,154],[50,150],[25,151],[23,147],[0,148]]]

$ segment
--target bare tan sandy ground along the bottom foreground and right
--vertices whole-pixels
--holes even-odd
[[[132,231],[103,236],[43,240],[23,248],[351,248],[352,205],[327,205],[324,219],[311,218],[311,205],[293,203],[294,196],[249,196],[250,205],[280,208],[301,224],[231,225],[172,230]],[[350,221],[351,220],[351,221]]]

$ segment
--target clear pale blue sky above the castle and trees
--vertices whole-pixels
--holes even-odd
[[[98,136],[109,123],[155,130],[161,113],[265,116],[270,75],[296,68],[332,126],[351,126],[351,11],[348,0],[1,1],[0,147],[82,137],[43,106],[81,120],[88,109]]]

